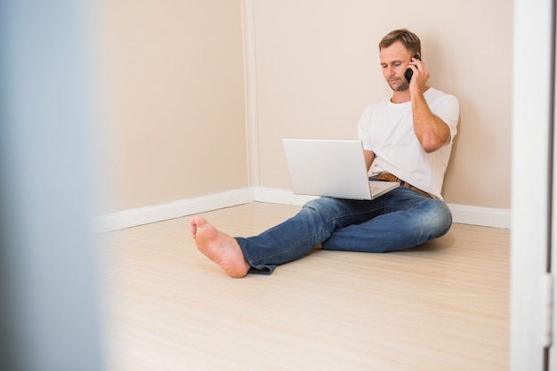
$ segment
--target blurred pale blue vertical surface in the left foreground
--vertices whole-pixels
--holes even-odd
[[[0,3],[0,369],[99,371],[87,1]]]

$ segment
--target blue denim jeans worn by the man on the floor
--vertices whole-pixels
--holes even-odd
[[[270,274],[319,244],[327,250],[383,253],[439,238],[451,223],[443,201],[399,187],[374,200],[318,198],[262,234],[236,239],[250,273]]]

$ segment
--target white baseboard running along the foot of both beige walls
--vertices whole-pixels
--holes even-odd
[[[315,197],[295,195],[290,190],[251,188],[231,190],[200,198],[188,198],[164,205],[146,206],[113,214],[104,214],[95,221],[97,232],[123,230],[151,222],[161,222],[186,215],[206,213],[224,207],[253,201],[302,206]],[[511,228],[511,210],[448,204],[453,222],[495,228]]]

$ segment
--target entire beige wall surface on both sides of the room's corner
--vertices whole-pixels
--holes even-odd
[[[447,201],[510,208],[512,2],[254,0],[247,102],[240,0],[106,4],[107,212],[246,188],[246,103],[260,185],[288,189],[280,139],[355,138],[362,110],[390,94],[376,45],[401,27],[421,36],[431,85],[461,104]]]

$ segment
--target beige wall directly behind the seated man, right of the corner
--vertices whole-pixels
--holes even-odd
[[[422,38],[430,85],[461,104],[446,200],[509,208],[512,9],[507,0],[255,0],[262,186],[288,188],[280,138],[356,137],[363,109],[390,94],[377,44],[409,28]]]

